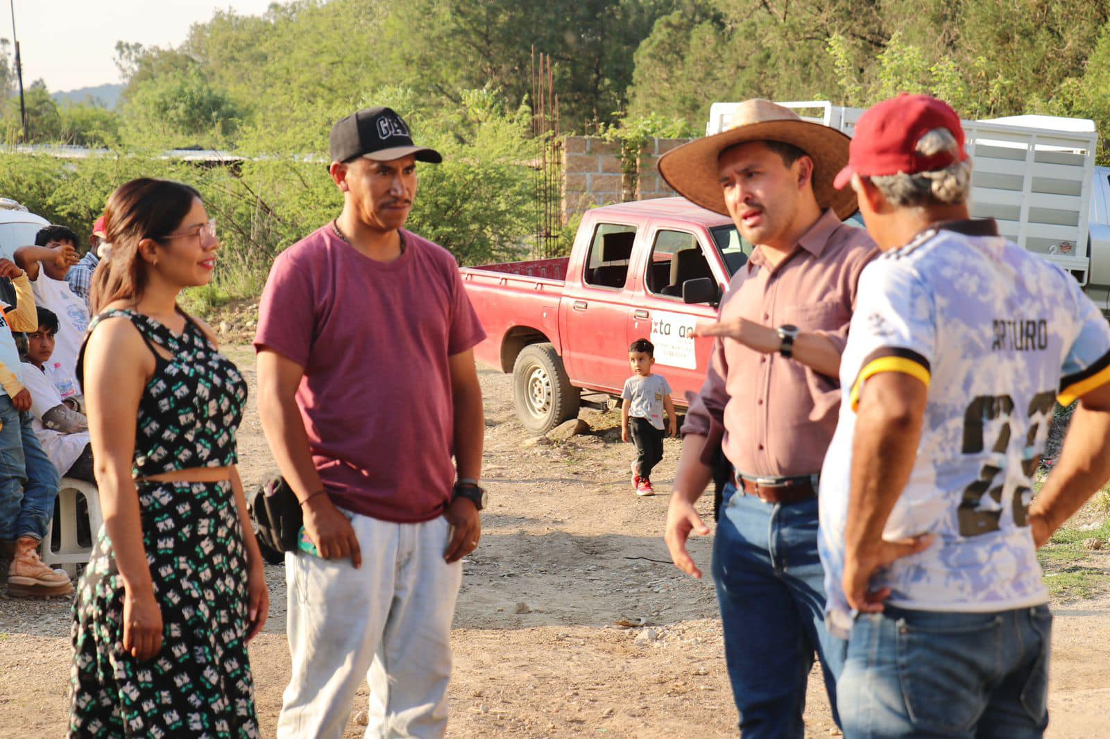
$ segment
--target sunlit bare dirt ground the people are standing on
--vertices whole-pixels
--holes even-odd
[[[249,350],[229,351],[252,383]],[[484,477],[492,506],[465,565],[453,645],[453,737],[727,737],[735,733],[712,583],[680,575],[660,538],[666,495],[637,498],[632,446],[615,414],[586,411],[593,433],[555,446],[529,442],[508,377],[481,374]],[[252,403],[253,408],[253,403]],[[240,435],[248,485],[272,465],[258,415]],[[669,488],[678,443],[654,476]],[[709,516],[708,502],[702,509]],[[707,567],[710,538],[693,543]],[[662,560],[662,561],[655,561]],[[268,569],[270,622],[252,644],[256,702],[273,736],[289,678],[282,567]],[[1058,604],[1049,736],[1110,736],[1110,600]],[[618,620],[646,627],[622,628]],[[57,737],[67,726],[68,604],[0,598],[0,737]],[[362,736],[355,702],[347,737]],[[806,720],[834,728],[816,675]]]

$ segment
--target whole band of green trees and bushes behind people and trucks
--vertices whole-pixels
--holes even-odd
[[[922,91],[965,118],[1092,118],[1110,135],[1110,0],[292,0],[216,11],[174,48],[121,40],[114,111],[59,105],[31,84],[32,142],[113,154],[6,155],[0,194],[85,232],[123,180],[183,179],[221,219],[221,284],[245,294],[337,212],[321,166],[334,121],[390,104],[445,154],[421,165],[412,226],[464,263],[504,259],[535,224],[534,53],[552,60],[562,131],[620,141],[628,162],[647,136],[695,134],[712,103],[751,97],[866,107]],[[7,144],[20,136],[12,91],[0,40]],[[174,146],[250,159],[152,156]]]

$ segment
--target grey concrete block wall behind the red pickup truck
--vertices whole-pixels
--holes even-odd
[[[563,222],[591,207],[629,200],[669,198],[675,192],[659,178],[659,156],[689,139],[653,139],[645,144],[637,173],[628,176],[620,161],[620,144],[593,136],[563,141]]]

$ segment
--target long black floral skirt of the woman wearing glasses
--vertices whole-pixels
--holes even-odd
[[[103,530],[73,604],[70,737],[258,737],[246,550],[231,483],[141,485],[162,648],[123,652],[123,581]]]

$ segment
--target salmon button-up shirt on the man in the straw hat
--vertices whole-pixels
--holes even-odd
[[[761,247],[755,250],[733,276],[720,317],[793,324],[804,333],[827,336],[844,351],[859,274],[878,253],[866,231],[825,211],[777,266]],[[725,456],[737,474],[813,475],[821,469],[839,407],[836,377],[794,358],[718,338],[683,435],[708,436],[715,444],[723,433]]]

